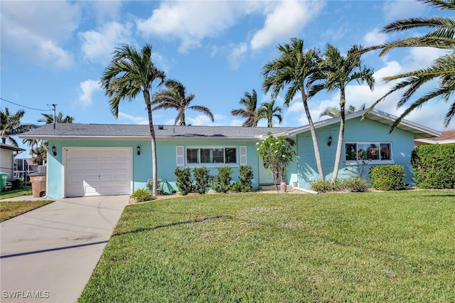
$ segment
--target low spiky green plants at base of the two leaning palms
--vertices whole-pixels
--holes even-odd
[[[311,190],[318,191],[319,193],[331,193],[336,191],[351,191],[354,193],[360,193],[368,190],[368,182],[359,176],[349,179],[341,179],[335,182],[319,180],[311,184]]]

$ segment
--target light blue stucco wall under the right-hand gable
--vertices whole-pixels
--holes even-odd
[[[323,174],[326,180],[330,180],[333,174],[339,127],[340,124],[336,123],[316,130]],[[412,149],[414,149],[414,134],[401,129],[395,129],[395,131],[389,134],[389,129],[390,126],[370,119],[361,120],[360,117],[349,119],[346,121],[344,142],[390,142],[392,144],[393,163],[405,167],[405,184],[414,184],[412,167],[410,164],[411,152]],[[327,145],[329,136],[332,137],[331,146]],[[296,142],[297,151],[299,153],[296,168],[299,187],[309,189],[311,183],[319,179],[311,133],[304,132],[298,134]],[[358,176],[363,168],[362,165],[346,164],[346,161],[344,161],[344,159],[346,159],[344,142],[341,153],[341,164],[338,170],[338,179]],[[371,165],[366,165],[364,167],[362,176],[365,179],[369,179],[368,172],[370,171],[370,167]]]

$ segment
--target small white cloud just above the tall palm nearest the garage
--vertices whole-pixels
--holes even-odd
[[[131,24],[105,23],[98,31],[80,33],[82,53],[87,60],[105,64],[112,57],[112,51],[122,43],[131,44]]]

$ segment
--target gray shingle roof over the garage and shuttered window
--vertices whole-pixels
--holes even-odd
[[[287,132],[293,127],[218,127],[218,126],[180,126],[155,125],[156,138],[232,138],[253,139],[267,135],[268,132],[279,134]],[[137,139],[149,138],[149,125],[137,124],[77,124],[61,123],[45,124],[43,127],[32,129],[21,134],[21,138],[122,138]]]

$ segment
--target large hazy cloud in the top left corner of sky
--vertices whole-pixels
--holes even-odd
[[[80,6],[66,1],[2,1],[2,51],[21,53],[41,65],[64,68],[73,55],[60,43],[68,40],[80,21]]]

